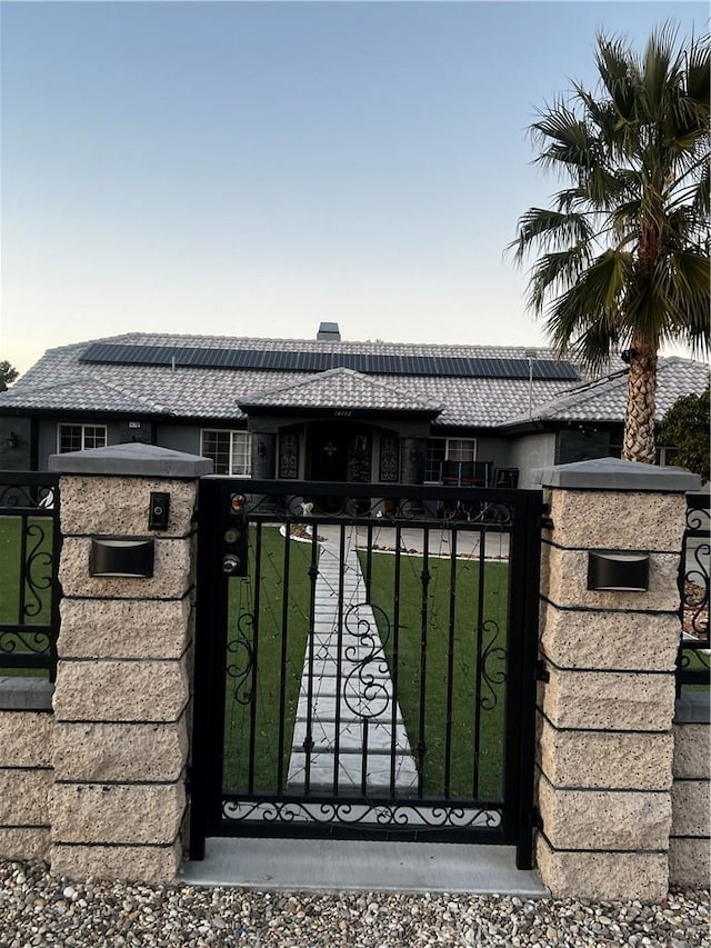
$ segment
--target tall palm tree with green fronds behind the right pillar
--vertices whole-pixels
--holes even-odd
[[[653,463],[658,351],[710,348],[709,42],[679,48],[667,24],[639,56],[599,34],[595,61],[598,88],[573,83],[531,126],[565,187],[509,249],[540,255],[528,302],[560,356],[629,363],[622,456]]]

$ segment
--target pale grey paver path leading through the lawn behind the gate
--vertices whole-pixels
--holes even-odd
[[[313,629],[301,678],[289,788],[307,789],[308,764],[308,787],[312,791],[415,792],[417,767],[392,691],[375,617],[365,601],[365,582],[354,543],[348,543],[341,575],[339,545],[324,542],[316,583]],[[309,732],[310,759],[306,751]]]

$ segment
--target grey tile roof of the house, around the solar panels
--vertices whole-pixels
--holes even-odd
[[[490,428],[528,420],[529,400],[537,418],[611,418],[621,420],[625,380],[612,376],[600,382],[571,390],[570,381],[495,378],[442,378],[437,376],[362,376],[352,370],[328,373],[261,371],[239,369],[176,368],[147,365],[102,365],[80,361],[93,341],[136,346],[194,346],[229,349],[283,349],[302,351],[369,351],[408,356],[454,356],[461,358],[525,358],[524,347],[430,346],[384,342],[318,342],[316,340],[246,339],[241,337],[201,337],[131,333],[50,349],[8,391],[0,392],[0,410],[106,411],[163,415],[176,418],[240,420],[240,402],[272,399],[274,407],[306,398],[310,407],[332,407],[334,398],[362,400],[363,406],[391,407],[392,410],[433,410],[443,406],[435,426]],[[540,358],[552,358],[550,349],[537,350]],[[678,395],[701,390],[705,367],[684,359],[670,362],[668,376],[660,370],[659,411]],[[621,362],[618,360],[615,367]],[[695,368],[689,368],[689,367]],[[701,371],[700,371],[701,370]],[[708,370],[705,370],[708,372]],[[349,375],[351,372],[351,375]],[[669,385],[667,378],[670,379]],[[331,382],[330,386],[327,385]],[[367,380],[367,381],[363,381]],[[663,382],[663,385],[661,385]],[[336,386],[336,387],[334,387]],[[619,391],[618,391],[619,386]],[[282,395],[279,395],[279,391]],[[670,395],[667,395],[667,391]],[[291,392],[291,399],[289,399]],[[599,395],[599,400],[598,396]],[[280,401],[279,399],[287,399]],[[337,399],[337,400],[338,400]],[[547,415],[545,412],[550,412]],[[565,412],[579,411],[581,415]],[[599,416],[593,411],[602,412]]]

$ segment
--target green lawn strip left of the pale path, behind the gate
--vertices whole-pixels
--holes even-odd
[[[226,789],[246,790],[251,782],[254,790],[273,791],[279,785],[280,765],[286,785],[291,756],[309,631],[311,546],[289,541],[287,589],[286,541],[278,529],[261,529],[258,573],[258,530],[250,527],[249,576],[230,579],[223,785]],[[284,617],[287,627],[282,636]],[[253,666],[243,676],[250,657]],[[254,750],[250,764],[252,734]]]

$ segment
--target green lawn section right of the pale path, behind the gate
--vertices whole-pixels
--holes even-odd
[[[373,553],[370,599],[379,607],[375,617],[415,757],[423,747],[423,794],[499,798],[508,565],[485,563],[480,589],[478,562],[458,559],[452,570],[448,558],[430,558],[423,595],[422,557],[401,556],[399,578],[395,563],[393,556]],[[479,655],[485,658],[485,675],[478,670]]]

